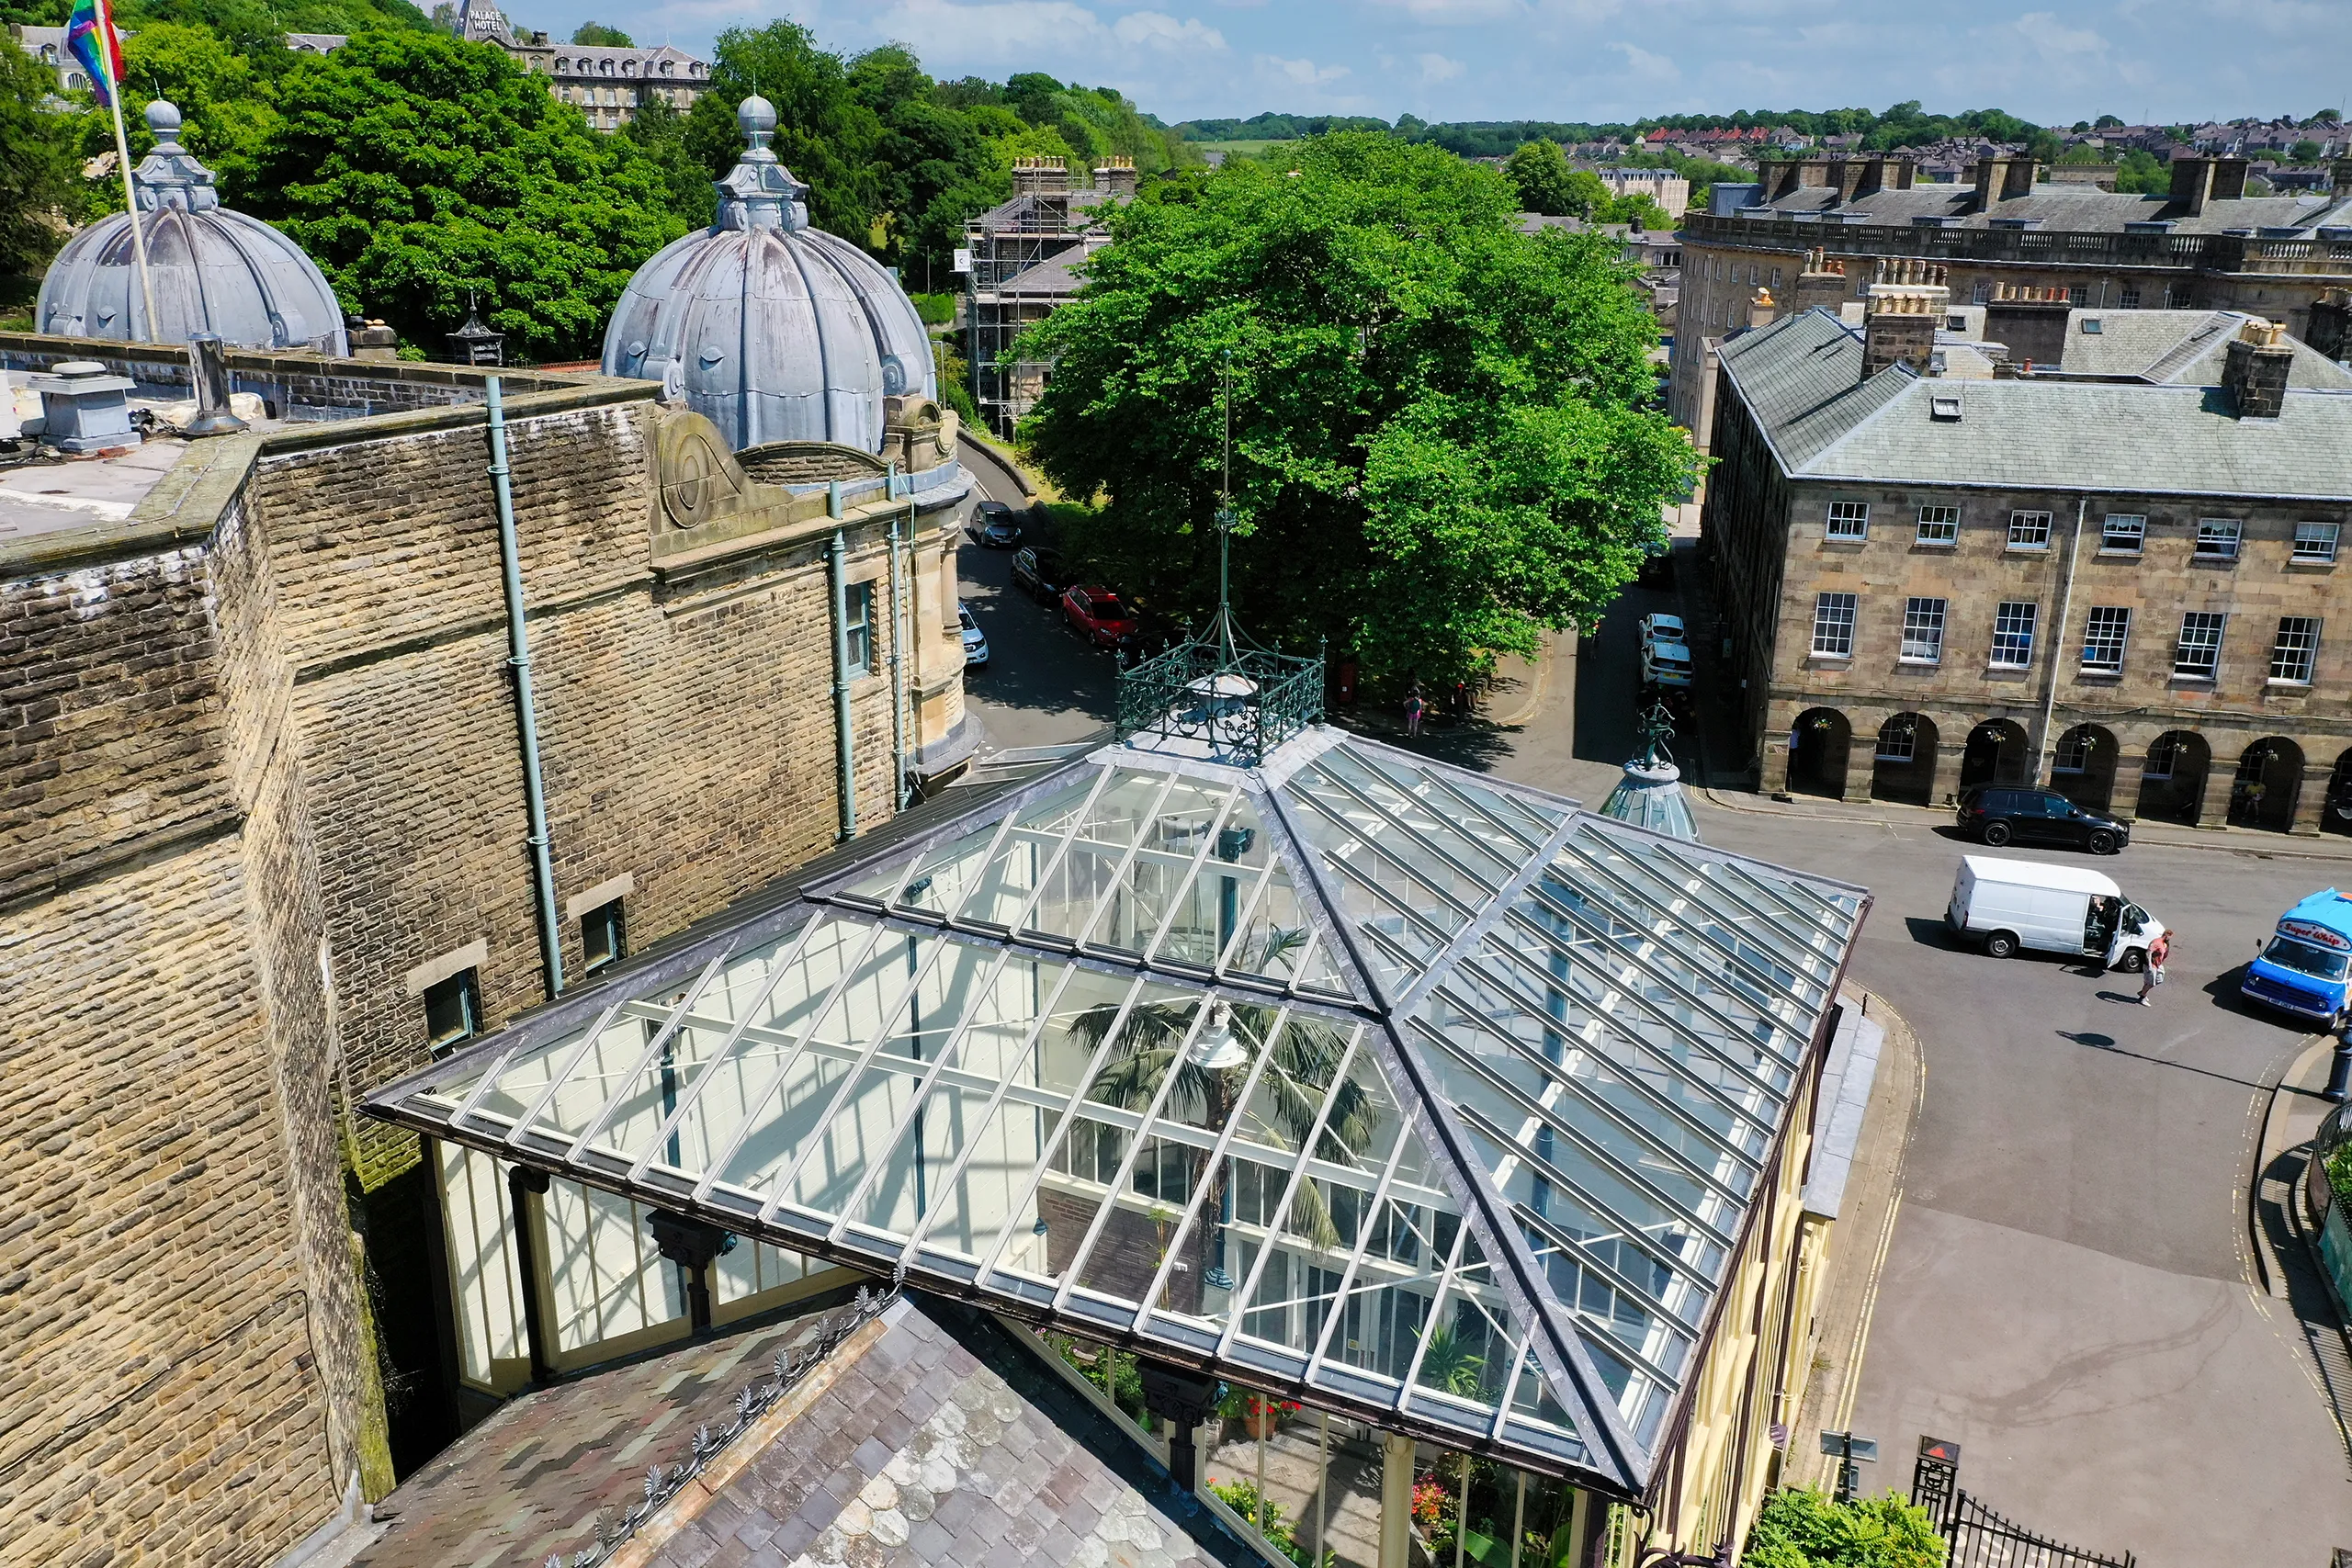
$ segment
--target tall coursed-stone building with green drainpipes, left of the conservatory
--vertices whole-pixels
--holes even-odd
[[[188,386],[0,336],[71,360]],[[245,435],[0,470],[5,1561],[268,1563],[454,1436],[437,1178],[358,1095],[971,745],[936,404],[736,456],[644,381],[228,371]]]

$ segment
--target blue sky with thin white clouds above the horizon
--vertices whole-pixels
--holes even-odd
[[[833,49],[915,47],[934,75],[1049,71],[1164,120],[1630,120],[1736,108],[2006,108],[2159,122],[2340,106],[2352,0],[506,0],[708,49],[809,24]]]

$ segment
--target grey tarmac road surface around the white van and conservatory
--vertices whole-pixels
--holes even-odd
[[[993,592],[1002,559],[964,552],[967,597]],[[1049,665],[1007,679],[1007,637],[971,684],[995,743],[1108,736],[1110,661],[1042,609],[990,604],[1030,621],[1018,658]],[[1486,719],[1409,745],[1597,804],[1635,750],[1632,623],[1651,609],[1684,602],[1630,588]],[[1025,705],[1030,689],[1042,705]],[[1388,715],[1338,722],[1397,738]],[[1696,773],[1703,736],[1677,755]],[[2352,1446],[2331,1394],[2352,1389],[2352,1356],[2331,1359],[2343,1333],[2324,1288],[2281,1274],[2288,1291],[2272,1293],[2256,1225],[2277,1180],[2260,1173],[2272,1105],[2300,1105],[2314,1041],[2237,997],[2279,910],[2338,882],[2326,863],[2352,842],[2138,827],[2096,865],[2176,931],[2171,983],[2140,1009],[2136,978],[2039,954],[1994,964],[1947,938],[1952,875],[1973,851],[1947,811],[1691,795],[1710,844],[1872,889],[1849,980],[1917,1041],[1907,1072],[1882,1072],[1865,1124],[1877,1164],[1856,1173],[1832,1244],[1832,1366],[1792,1427],[1792,1472],[1818,1427],[1842,1425],[1886,1455],[1865,1486],[1907,1490],[1917,1441],[1936,1436],[1962,1443],[1959,1486],[1985,1505],[2143,1568],[2324,1568],[2352,1547]],[[1842,1373],[1837,1333],[1860,1342]]]

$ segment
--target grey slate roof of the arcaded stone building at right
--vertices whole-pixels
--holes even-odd
[[[1863,334],[1820,308],[1726,341],[1722,364],[1790,477],[2352,501],[2352,390],[2239,418],[2213,386],[1860,381]],[[1950,397],[1959,418],[1936,418]]]

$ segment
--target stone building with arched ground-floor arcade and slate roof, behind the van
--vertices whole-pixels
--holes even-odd
[[[2049,780],[2345,830],[2352,371],[2241,313],[2060,296],[2016,301],[2063,341],[2030,374],[1933,374],[1966,346],[1905,277],[1860,327],[1809,308],[1722,348],[1703,538],[1762,788]]]

